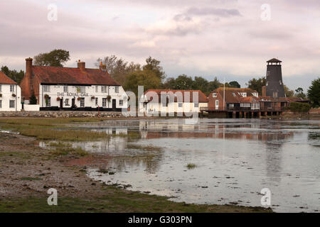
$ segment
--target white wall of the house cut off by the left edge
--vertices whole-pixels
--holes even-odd
[[[0,111],[21,111],[21,89],[16,84],[0,84],[1,90],[0,97],[1,107]],[[14,92],[10,92],[10,85],[14,86]],[[12,96],[12,94],[16,94],[16,96]],[[14,101],[14,108],[10,108],[10,101]]]

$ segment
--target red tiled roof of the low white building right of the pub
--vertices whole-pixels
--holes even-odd
[[[193,92],[198,92],[198,102],[208,102],[206,94],[203,94],[201,90],[149,89],[146,92],[144,92],[149,101],[152,100],[151,92],[156,92],[156,94],[159,95],[159,102],[161,101],[161,92],[172,92],[173,94],[176,94],[176,92],[181,92],[184,102],[193,102]],[[190,99],[186,97],[186,94],[190,94]],[[177,96],[174,96],[174,102],[176,101]]]

